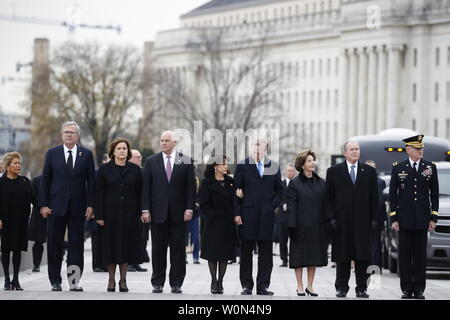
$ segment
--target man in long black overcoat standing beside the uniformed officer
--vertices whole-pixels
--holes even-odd
[[[344,156],[346,161],[329,168],[326,178],[326,215],[334,230],[331,258],[336,262],[336,296],[347,296],[351,261],[354,260],[356,296],[368,298],[370,232],[378,227],[377,173],[358,161],[357,142],[344,144]]]

